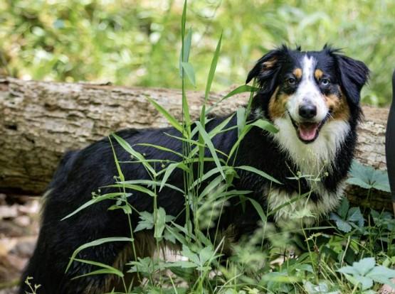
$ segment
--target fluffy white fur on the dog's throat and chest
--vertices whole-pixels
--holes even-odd
[[[278,223],[293,219],[311,225],[334,209],[342,197],[344,182],[337,185],[335,192],[328,192],[321,179],[326,172],[330,172],[337,150],[341,148],[345,136],[349,133],[349,124],[346,121],[328,121],[322,126],[318,138],[310,144],[305,144],[297,138],[289,117],[275,119],[274,124],[280,131],[274,134],[273,138],[280,148],[290,155],[290,159],[298,168],[298,174],[307,176],[311,192],[318,195],[320,200],[313,202],[310,199],[311,192],[307,195],[299,195],[297,192],[289,195],[284,190],[268,188],[265,190],[268,206]],[[284,207],[278,208],[281,205]]]

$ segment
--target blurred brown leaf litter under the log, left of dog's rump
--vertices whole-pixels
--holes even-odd
[[[38,236],[39,197],[0,193],[0,294],[14,294]]]

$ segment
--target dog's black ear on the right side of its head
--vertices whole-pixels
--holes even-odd
[[[369,68],[364,62],[345,55],[335,54],[340,75],[340,85],[349,103],[359,104],[361,89],[369,79]]]

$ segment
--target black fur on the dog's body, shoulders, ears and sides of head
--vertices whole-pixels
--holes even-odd
[[[283,46],[277,50],[270,51],[263,56],[253,70],[248,75],[247,82],[253,78],[258,80],[260,91],[254,98],[253,111],[260,107],[267,111],[268,102],[275,87],[280,84],[281,72],[290,63],[295,62],[295,57],[301,55],[300,50],[289,50]],[[342,89],[347,94],[352,116],[350,118],[351,131],[345,139],[341,148],[337,151],[337,156],[332,163],[332,172],[325,177],[323,183],[328,191],[335,191],[340,180],[344,179],[349,170],[352,160],[352,153],[357,140],[355,127],[359,119],[359,93],[367,80],[368,70],[362,62],[352,60],[344,55],[338,55],[335,50],[324,48],[320,52],[312,52],[328,63],[328,67],[333,75],[339,79]],[[325,61],[326,60],[326,61]],[[272,62],[270,67],[265,67],[263,62]],[[253,113],[253,111],[251,113]],[[214,118],[207,124],[208,130],[217,126],[224,118]],[[253,115],[251,114],[251,119]],[[236,118],[233,117],[229,126],[236,125]],[[281,130],[280,130],[281,131]],[[167,136],[181,136],[179,131],[167,129],[129,129],[120,131],[118,136],[124,138],[131,146],[136,143],[152,143],[166,146],[173,151],[181,152],[179,140]],[[237,140],[237,130],[233,129],[225,133],[218,134],[213,138],[214,146],[224,153],[229,153],[231,147]],[[120,161],[130,160],[130,155],[121,146],[112,140],[115,153]],[[135,150],[144,153],[147,159],[168,159],[179,161],[174,153],[159,151],[147,146],[135,146]],[[286,151],[281,151],[278,144],[273,141],[272,136],[261,129],[253,127],[243,139],[236,156],[236,166],[250,165],[258,170],[272,175],[280,180],[283,185],[276,187],[292,193],[299,190],[298,183],[290,180],[297,167]],[[147,172],[142,165],[137,163],[121,164],[122,172],[127,180],[147,178]],[[161,168],[161,167],[156,167]],[[212,164],[206,164],[206,169],[213,168]],[[113,205],[113,200],[99,202],[96,205],[75,214],[73,217],[60,221],[70,212],[83,205],[91,199],[92,192],[98,191],[100,187],[114,183],[114,176],[117,175],[112,148],[107,138],[102,139],[81,151],[68,153],[59,165],[56,174],[48,187],[48,196],[43,207],[41,232],[38,238],[36,250],[31,261],[28,263],[26,271],[23,273],[21,288],[19,293],[24,293],[26,285],[23,284],[26,276],[34,278],[33,283],[40,283],[42,287],[39,293],[85,293],[91,289],[91,293],[103,289],[106,283],[104,276],[89,276],[70,280],[74,276],[89,273],[95,270],[94,266],[74,262],[70,270],[65,273],[65,267],[73,251],[81,244],[85,244],[95,239],[109,236],[128,236],[129,228],[127,218],[123,212],[118,210],[108,210]],[[260,176],[241,171],[240,178],[234,180],[234,185],[239,190],[253,191],[248,197],[260,202],[263,207],[267,205],[263,195],[263,188],[268,185],[268,181]],[[169,183],[178,187],[183,187],[183,174],[181,170],[174,170]],[[301,182],[302,193],[310,190],[307,182]],[[101,193],[110,192],[110,188],[101,188]],[[152,211],[152,197],[133,192],[130,203],[139,211]],[[319,195],[312,195],[312,200],[319,200]],[[249,202],[240,205],[238,200],[232,198],[231,204],[226,207],[221,216],[221,228],[226,229],[233,225],[236,235],[249,234],[257,227],[259,220],[256,210],[248,205]],[[163,207],[167,214],[179,215],[176,222],[184,223],[184,214],[179,214],[184,209],[184,196],[181,193],[164,187],[158,197],[158,206]],[[139,219],[136,214],[132,214],[132,224],[136,225]],[[85,249],[80,254],[80,258],[99,261],[112,265],[125,244],[111,243]]]

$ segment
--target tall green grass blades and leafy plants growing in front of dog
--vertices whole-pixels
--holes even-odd
[[[231,148],[230,154],[218,156],[220,151],[211,143],[211,138],[227,131],[225,128],[229,119],[209,132],[206,131],[205,124],[213,109],[207,108],[207,102],[221,49],[221,38],[211,62],[201,115],[198,121],[193,121],[189,115],[185,90],[187,82],[195,84],[194,67],[189,62],[191,36],[191,29],[186,30],[185,4],[181,19],[182,46],[179,61],[182,121],[177,121],[163,107],[148,98],[169,124],[182,134],[179,138],[183,144],[183,152],[179,153],[181,160],[171,163],[167,160],[146,160],[144,154],[135,151],[134,146],[130,146],[119,136],[112,135],[110,141],[116,141],[125,148],[135,160],[135,163],[130,164],[141,164],[147,170],[149,179],[125,178],[117,154],[114,153],[118,174],[112,187],[117,187],[119,191],[94,195],[92,200],[68,217],[102,200],[116,200],[115,205],[109,209],[123,209],[127,214],[130,236],[104,238],[84,244],[75,250],[70,263],[76,261],[97,266],[95,272],[86,275],[108,274],[119,277],[125,285],[123,293],[374,293],[382,283],[389,283],[389,279],[395,277],[395,271],[390,269],[395,265],[395,221],[388,212],[371,209],[363,214],[359,207],[349,207],[349,202],[344,199],[337,211],[330,214],[320,227],[284,227],[278,230],[267,222],[273,211],[264,211],[258,202],[248,199],[248,191],[234,190],[232,180],[237,177],[238,170],[249,170],[275,181],[260,170],[233,166],[231,158],[237,153],[238,144],[252,126],[271,132],[277,130],[267,121],[260,120],[251,124],[246,120],[256,88],[247,85],[238,87],[223,99],[241,92],[251,92],[250,100],[246,108],[236,111],[238,141]],[[152,148],[165,150],[163,146]],[[209,150],[211,156],[206,156],[206,150]],[[215,168],[205,171],[204,165],[208,161],[214,162]],[[194,168],[196,164],[199,166],[197,173]],[[161,168],[158,170],[155,168],[157,166]],[[184,171],[183,190],[167,183],[169,176],[177,168]],[[199,189],[202,181],[208,178],[212,179],[209,185],[203,190]],[[388,190],[385,175],[357,163],[353,166],[349,182],[366,188],[369,191],[367,197],[374,189]],[[157,206],[157,195],[164,186],[183,193],[186,213],[184,226],[173,222],[174,216],[167,215],[162,207]],[[153,198],[152,213],[139,212],[130,205],[128,197],[133,191]],[[234,244],[235,254],[224,260],[221,256],[225,240],[219,234],[210,239],[206,232],[207,229],[216,227],[216,220],[229,197],[251,201],[260,215],[261,223],[252,236]],[[131,223],[132,214],[139,215],[138,224]],[[138,273],[139,280],[142,281],[137,288],[127,285],[125,274],[117,268],[77,258],[80,251],[90,246],[112,241],[129,242],[135,251],[135,234],[146,229],[153,231],[158,254],[127,263],[128,271]],[[178,258],[169,260],[169,252],[160,254],[163,241],[179,244],[181,251]],[[31,289],[39,293],[39,288],[31,286]]]

